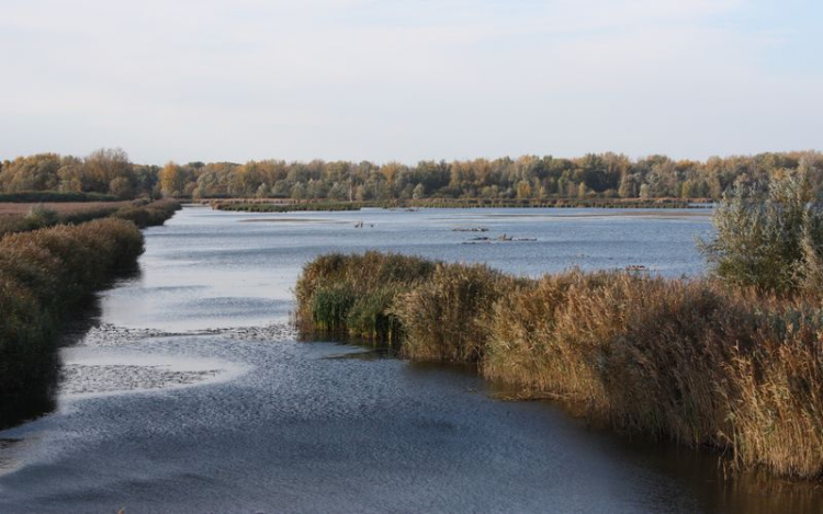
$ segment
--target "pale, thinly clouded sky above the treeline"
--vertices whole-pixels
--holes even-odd
[[[819,0],[0,0],[0,159],[823,149]]]

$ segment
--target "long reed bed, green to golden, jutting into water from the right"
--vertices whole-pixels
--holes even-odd
[[[474,362],[515,397],[562,398],[621,432],[709,446],[737,468],[823,475],[814,301],[629,272],[528,279],[376,252],[317,258],[295,292],[304,333]]]

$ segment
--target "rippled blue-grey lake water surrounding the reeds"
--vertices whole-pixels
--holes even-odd
[[[58,410],[0,432],[0,512],[818,512],[811,487],[723,480],[712,455],[288,324],[301,266],[329,251],[680,276],[710,232],[691,210],[185,208],[64,349]]]

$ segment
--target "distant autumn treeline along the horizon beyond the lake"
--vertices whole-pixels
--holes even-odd
[[[488,160],[286,162],[283,160],[135,164],[120,149],[86,158],[41,153],[3,161],[0,193],[53,191],[117,198],[291,198],[348,202],[483,198],[712,198],[733,185],[802,171],[823,189],[819,151],[714,157],[707,161],[618,153],[565,159],[523,156]]]

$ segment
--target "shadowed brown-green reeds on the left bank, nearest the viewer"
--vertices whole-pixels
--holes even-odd
[[[48,403],[66,312],[142,252],[137,227],[111,218],[0,240],[0,426]]]

